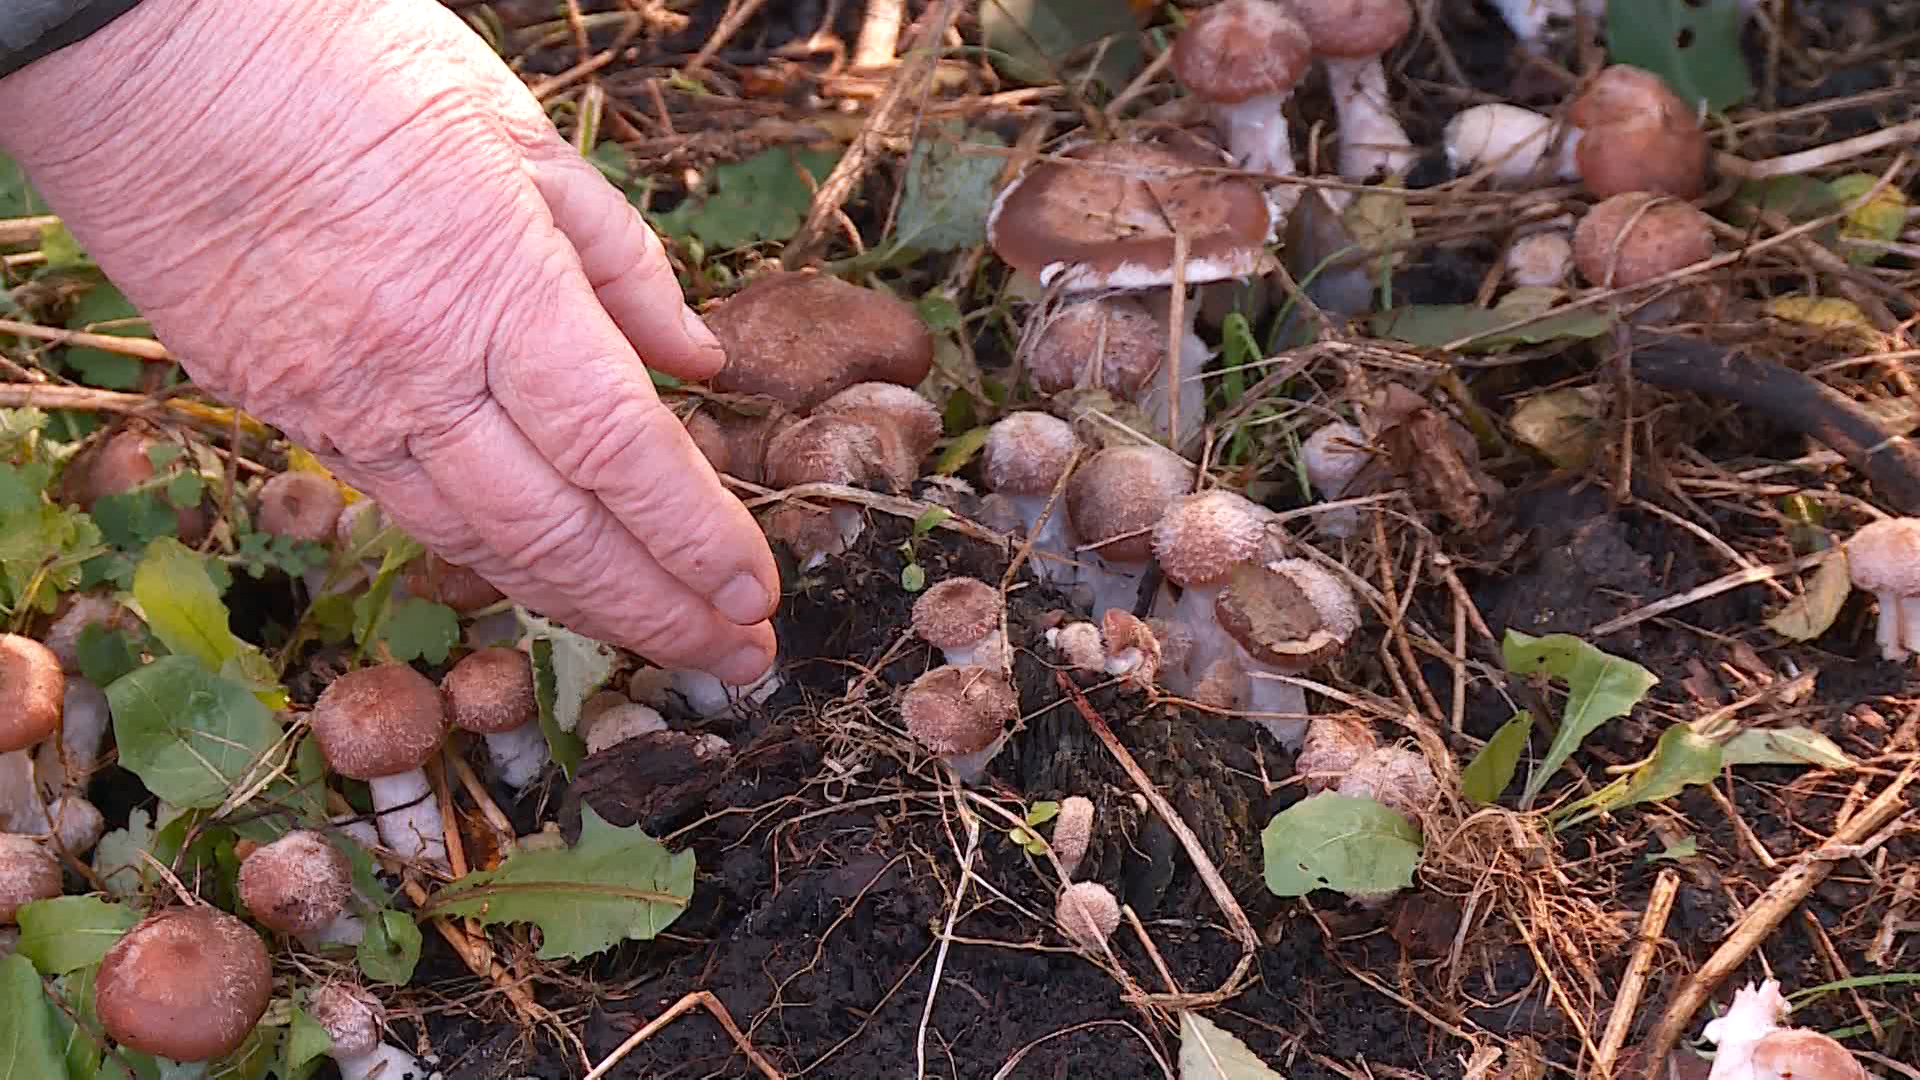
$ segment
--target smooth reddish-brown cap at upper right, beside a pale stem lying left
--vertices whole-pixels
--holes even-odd
[[[1707,133],[1667,83],[1626,63],[1605,67],[1567,108],[1580,181],[1594,198],[1707,190]]]

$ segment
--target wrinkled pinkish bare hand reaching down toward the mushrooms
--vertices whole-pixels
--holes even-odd
[[[146,0],[0,79],[17,158],[194,380],[572,628],[749,682],[778,571],[647,365],[659,238],[434,0]]]

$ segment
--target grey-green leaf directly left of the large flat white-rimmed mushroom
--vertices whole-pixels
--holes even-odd
[[[906,192],[900,215],[885,248],[895,252],[956,252],[987,242],[987,211],[993,208],[998,154],[970,152],[970,146],[1006,146],[991,131],[968,131],[960,123],[929,125],[906,160]]]

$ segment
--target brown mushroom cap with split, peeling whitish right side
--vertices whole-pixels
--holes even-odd
[[[1248,655],[1281,671],[1332,659],[1359,628],[1354,590],[1308,559],[1240,563],[1213,617]]]

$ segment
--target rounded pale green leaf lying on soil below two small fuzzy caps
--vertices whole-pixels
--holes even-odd
[[[1398,892],[1413,884],[1421,830],[1373,799],[1321,792],[1273,815],[1260,834],[1267,890],[1306,896]]]

